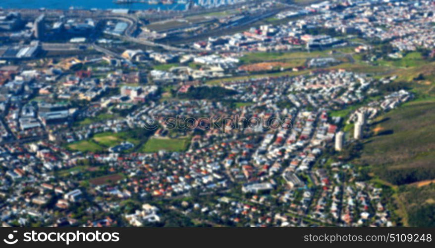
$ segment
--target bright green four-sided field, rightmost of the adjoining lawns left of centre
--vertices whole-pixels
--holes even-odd
[[[186,138],[150,138],[141,147],[142,152],[184,151],[189,146],[190,137]]]

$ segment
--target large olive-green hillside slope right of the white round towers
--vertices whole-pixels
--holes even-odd
[[[435,101],[417,101],[379,117],[361,160],[374,166],[426,167],[435,161]]]

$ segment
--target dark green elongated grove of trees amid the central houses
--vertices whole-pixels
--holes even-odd
[[[178,97],[187,99],[221,99],[237,94],[237,91],[219,86],[190,87],[186,93],[178,93]]]

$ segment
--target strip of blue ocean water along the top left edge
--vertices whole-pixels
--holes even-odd
[[[127,3],[117,4],[113,0],[0,0],[2,8],[47,8],[47,9],[161,9],[161,10],[184,10],[185,4],[148,4],[148,3]]]

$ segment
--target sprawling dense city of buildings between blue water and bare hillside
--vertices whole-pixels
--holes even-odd
[[[193,5],[0,8],[3,227],[419,225],[434,171],[367,147],[434,99],[434,1]]]

